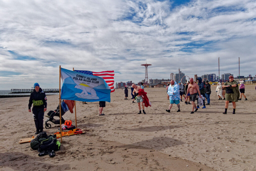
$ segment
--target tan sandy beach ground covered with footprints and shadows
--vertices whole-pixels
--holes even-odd
[[[146,115],[136,114],[130,89],[129,100],[122,89],[111,93],[105,116],[98,116],[98,102],[77,102],[77,126],[86,134],[63,137],[53,158],[18,143],[35,133],[29,97],[1,98],[0,170],[256,170],[255,86],[246,86],[248,101],[237,102],[236,114],[230,105],[227,115],[215,88],[210,105],[194,114],[184,102],[181,112],[174,105],[167,113],[166,88],[145,89],[152,102]],[[59,102],[58,95],[47,98],[46,113]],[[75,124],[74,114],[63,118]],[[58,132],[58,125],[45,131]]]

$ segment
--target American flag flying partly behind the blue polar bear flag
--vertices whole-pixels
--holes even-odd
[[[98,77],[102,77],[105,82],[109,85],[111,88],[111,93],[115,91],[114,89],[114,71],[102,71],[102,72],[92,72],[92,71],[82,71],[82,70],[74,70],[76,72],[84,73],[84,74],[89,74],[89,75],[95,75]]]

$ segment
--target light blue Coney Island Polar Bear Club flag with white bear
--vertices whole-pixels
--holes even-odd
[[[111,89],[102,77],[61,68],[61,99],[110,102]]]

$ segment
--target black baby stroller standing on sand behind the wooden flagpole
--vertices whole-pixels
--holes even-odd
[[[45,121],[45,128],[46,129],[49,129],[49,128],[51,128],[51,124],[49,124],[49,123],[47,123],[47,122],[52,122],[52,123],[54,123],[54,124],[60,124],[60,109],[61,109],[61,123],[65,123],[65,119],[63,119],[63,115],[69,110],[68,109],[68,106],[66,105],[66,103],[64,102],[64,100],[61,100],[60,101],[61,102],[61,106],[60,105],[58,105],[58,107],[57,107],[57,109],[55,109],[55,111],[53,111],[53,110],[50,110],[49,112],[48,112],[48,116],[49,116],[49,118]],[[55,117],[55,118],[54,118]],[[58,117],[58,119],[56,119],[56,117]]]

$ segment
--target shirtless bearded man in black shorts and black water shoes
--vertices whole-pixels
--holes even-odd
[[[189,92],[190,94],[190,99],[192,102],[192,113],[194,113],[194,108],[196,108],[195,112],[198,110],[195,101],[196,101],[196,97],[197,97],[197,93],[199,94],[199,97],[202,98],[201,94],[200,94],[200,90],[199,90],[199,86],[198,84],[194,83],[194,79],[190,78],[189,79],[189,83],[188,84],[188,89],[187,89],[187,93]],[[188,96],[186,96],[186,98],[188,98]]]

